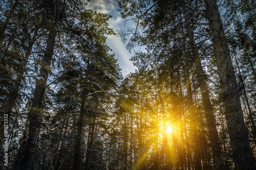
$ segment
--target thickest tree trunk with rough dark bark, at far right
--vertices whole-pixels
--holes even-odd
[[[230,52],[216,0],[204,0],[212,45],[222,90],[224,114],[230,136],[235,169],[256,169],[231,62]]]

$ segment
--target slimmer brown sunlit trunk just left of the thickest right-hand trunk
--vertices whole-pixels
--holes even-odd
[[[183,10],[186,11],[185,6],[183,6]],[[219,134],[216,128],[216,119],[214,116],[214,111],[210,103],[210,95],[209,95],[209,90],[206,82],[206,76],[204,74],[204,70],[200,60],[198,47],[194,39],[193,30],[189,24],[188,15],[189,14],[185,16],[187,35],[189,38],[193,57],[195,59],[196,74],[198,77],[199,87],[202,95],[202,104],[203,104],[203,109],[205,113],[207,129],[209,132],[210,146],[212,149],[213,165],[214,165],[214,169],[224,169],[224,163],[223,163],[222,153],[221,153],[221,145],[219,141]]]

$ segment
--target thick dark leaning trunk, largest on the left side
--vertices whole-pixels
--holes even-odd
[[[59,6],[61,1],[54,2],[52,13],[52,24],[49,30],[46,53],[42,58],[39,79],[36,80],[35,92],[32,99],[32,107],[28,112],[27,127],[24,136],[20,141],[20,148],[17,153],[14,169],[26,169],[30,167],[32,153],[34,152],[36,131],[40,129],[40,120],[44,103],[47,79],[52,61],[55,37],[57,35],[57,22],[59,18]]]

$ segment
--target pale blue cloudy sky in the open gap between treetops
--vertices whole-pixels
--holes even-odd
[[[115,32],[118,30],[126,30],[129,23],[125,24],[126,27],[124,27],[125,20],[121,17],[120,13],[116,11],[113,2],[113,0],[91,0],[88,2],[86,8],[96,10],[99,13],[112,15],[113,17],[109,20],[109,27]],[[135,72],[137,67],[129,60],[133,54],[126,50],[125,44],[121,41],[121,37],[116,35],[106,35],[106,37],[108,37],[106,43],[113,50],[112,53],[115,54],[115,58],[122,68],[123,77],[127,76],[130,72]]]

